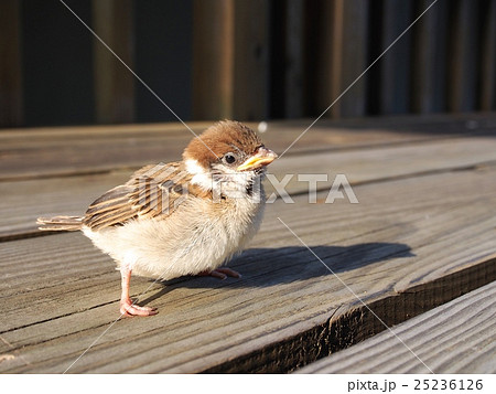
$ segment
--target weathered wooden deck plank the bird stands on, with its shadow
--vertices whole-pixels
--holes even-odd
[[[118,321],[69,372],[282,372],[384,329],[277,217],[388,324],[481,287],[496,278],[495,175],[356,187],[359,204],[276,202],[233,263],[242,279],[137,278],[161,312]],[[74,233],[2,245],[0,334],[14,355],[2,372],[63,372],[118,317],[118,273]]]

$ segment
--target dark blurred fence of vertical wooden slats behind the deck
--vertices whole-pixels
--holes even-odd
[[[184,120],[319,116],[433,0],[65,0]],[[439,0],[326,114],[496,109],[496,0]],[[0,1],[0,127],[176,118],[57,0]]]

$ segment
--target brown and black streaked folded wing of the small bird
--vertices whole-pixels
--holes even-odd
[[[191,178],[181,162],[143,167],[89,205],[83,223],[99,230],[138,217],[166,217],[186,195],[207,196]]]

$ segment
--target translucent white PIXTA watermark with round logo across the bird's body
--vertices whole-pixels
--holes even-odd
[[[262,178],[269,190],[262,191]],[[358,199],[344,173],[330,178],[327,173],[299,173],[266,177],[254,172],[233,172],[193,175],[179,167],[157,164],[138,173],[130,194],[134,206],[142,213],[168,213],[175,211],[188,196],[207,196],[214,203],[229,199],[250,199],[252,202],[271,204],[278,199],[293,204],[291,191],[306,194],[308,203],[332,204],[336,200],[347,200],[358,204]],[[317,194],[321,199],[317,200]]]

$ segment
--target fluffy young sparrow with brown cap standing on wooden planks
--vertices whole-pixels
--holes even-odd
[[[261,178],[277,155],[237,121],[194,138],[183,160],[134,172],[89,205],[84,216],[40,217],[40,230],[83,231],[121,274],[120,312],[151,316],[129,297],[131,273],[157,279],[183,275],[239,277],[219,268],[254,237],[263,214]]]

